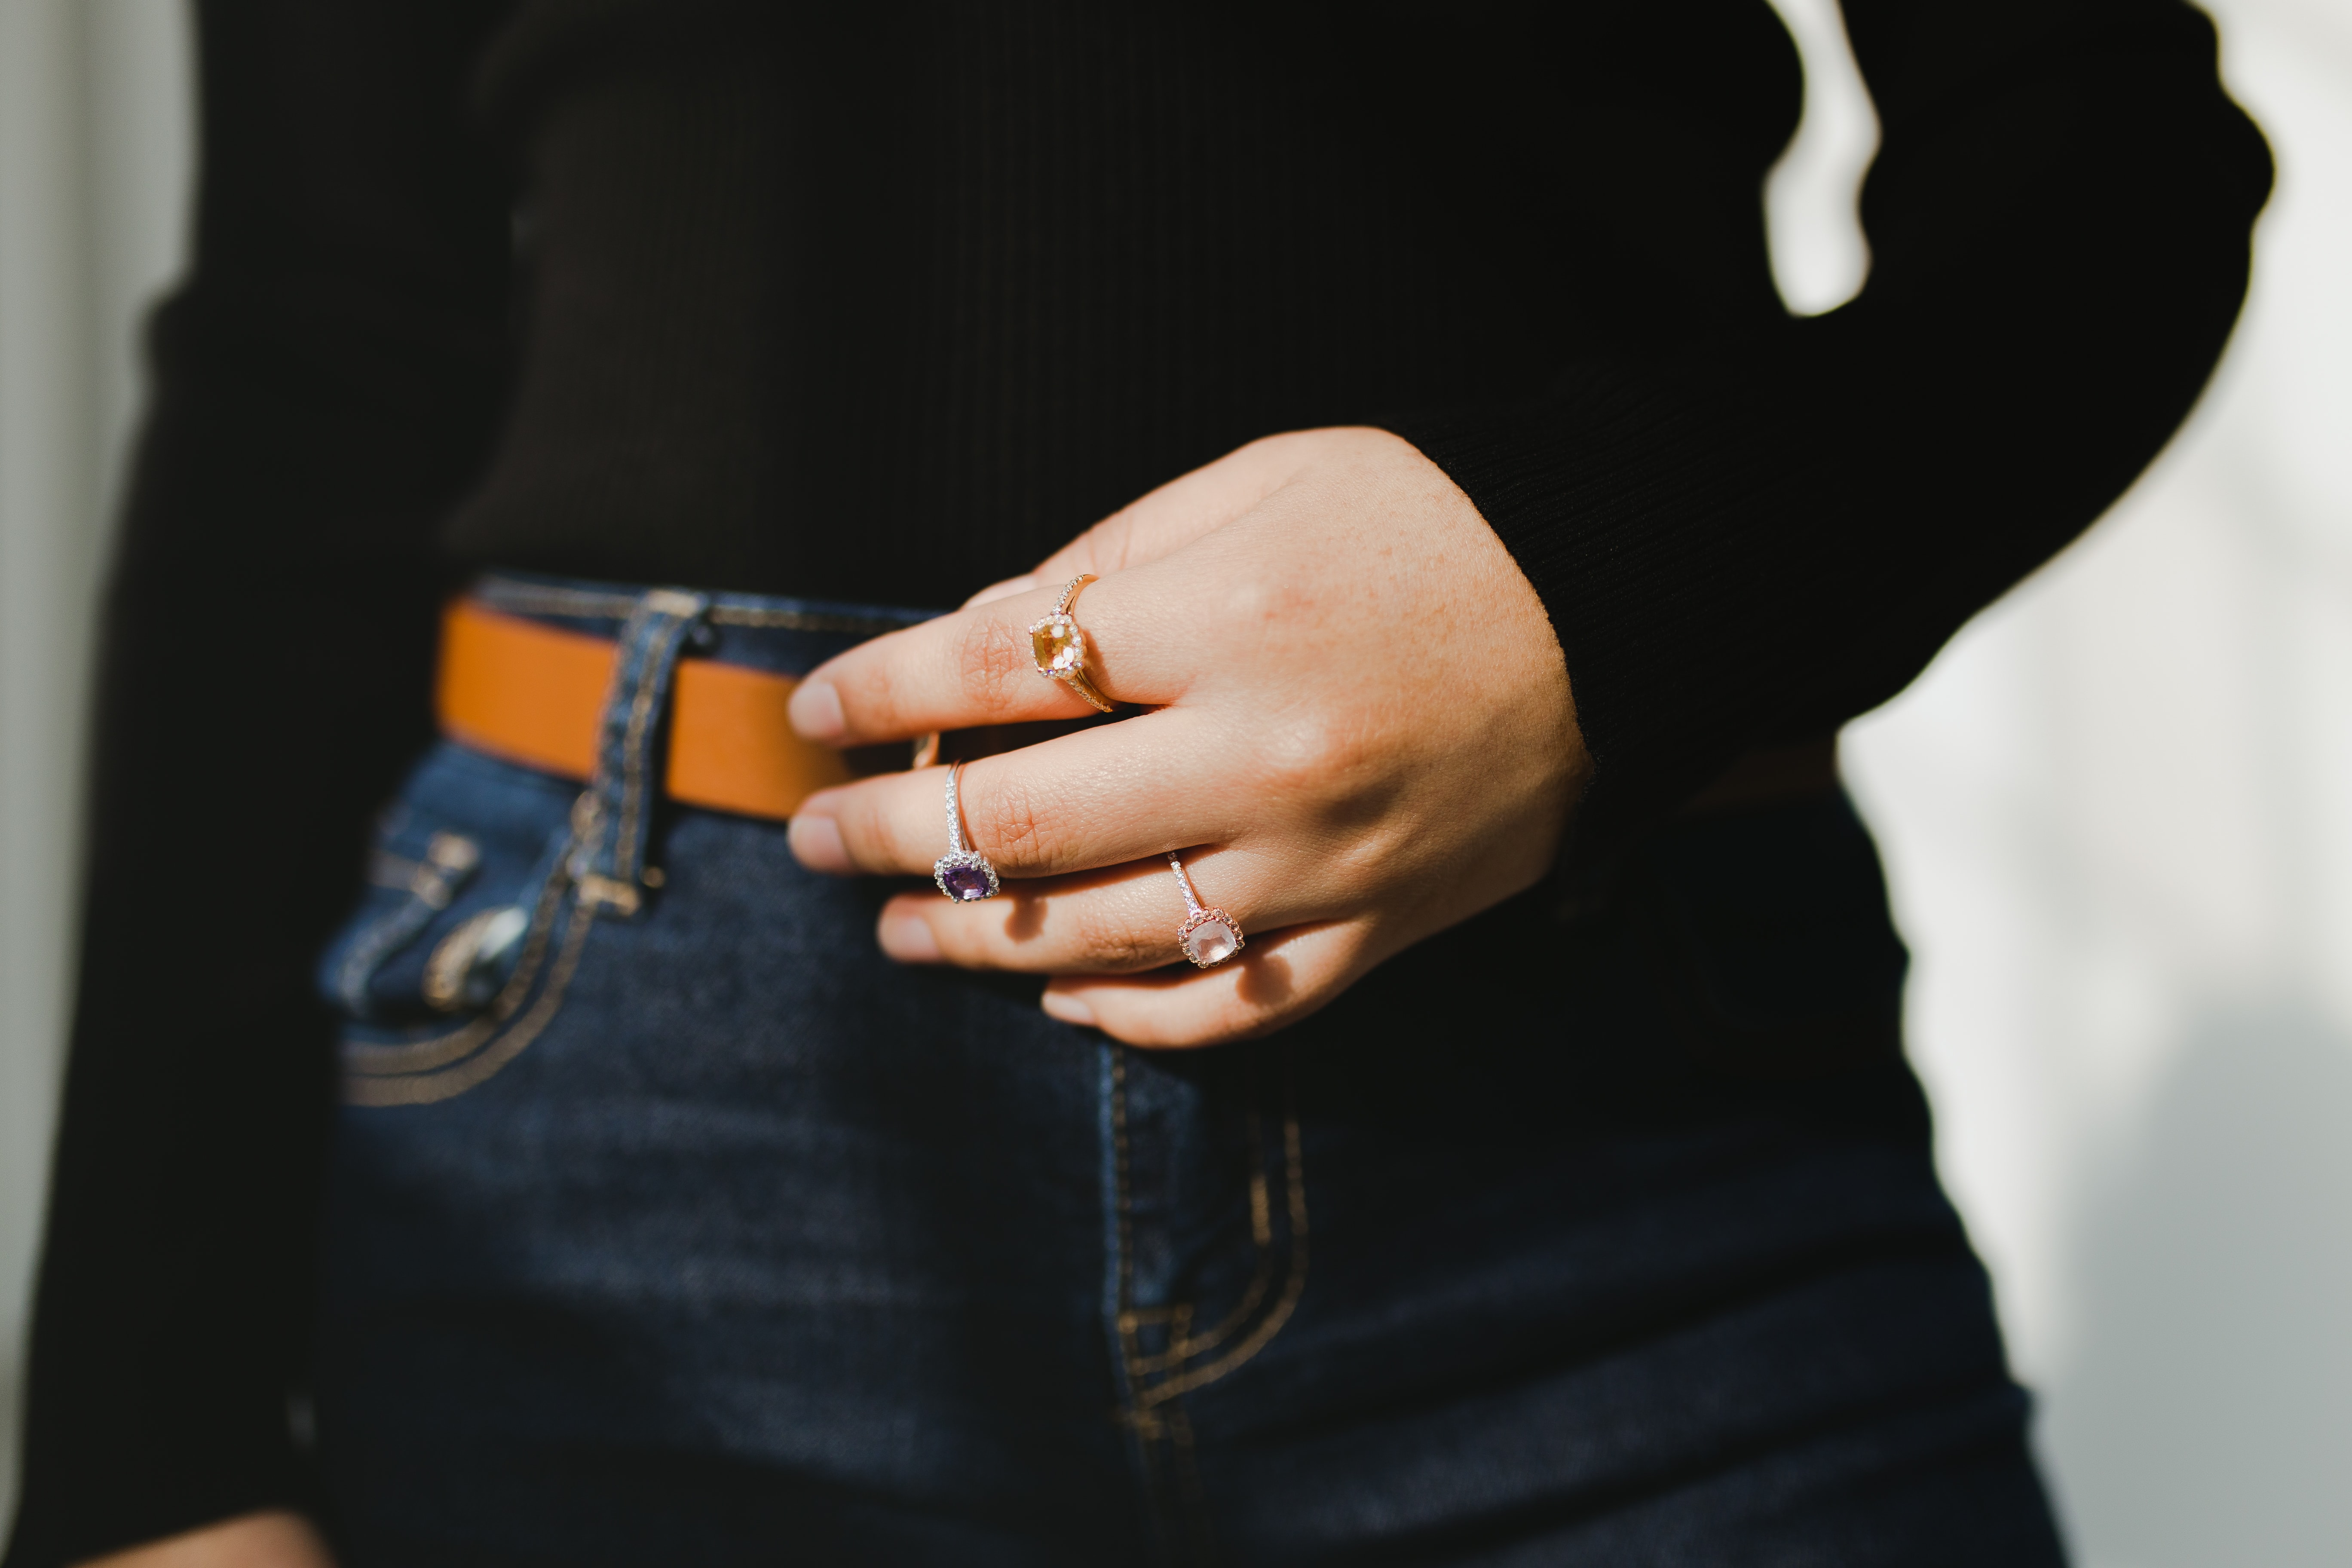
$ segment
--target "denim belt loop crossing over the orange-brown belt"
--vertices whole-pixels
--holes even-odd
[[[710,602],[652,588],[628,611],[597,719],[595,778],[572,809],[567,870],[583,905],[628,919],[644,905],[644,839],[661,797],[670,675]]]

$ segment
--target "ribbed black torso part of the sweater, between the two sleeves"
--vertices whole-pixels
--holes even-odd
[[[1797,80],[1769,12],[1705,9],[1679,49],[1534,7],[529,7],[482,82],[522,381],[449,538],[955,604],[1258,435],[1766,324]],[[1693,78],[1639,169],[1590,155],[1625,61]],[[1679,268],[1644,254],[1661,202],[1703,228]]]

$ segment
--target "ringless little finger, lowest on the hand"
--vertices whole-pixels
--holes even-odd
[[[1216,969],[1063,976],[1047,983],[1042,1006],[1129,1046],[1216,1046],[1298,1023],[1381,957],[1367,917],[1291,926]]]

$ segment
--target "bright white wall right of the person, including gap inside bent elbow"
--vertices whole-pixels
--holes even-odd
[[[1835,63],[1830,0],[1785,0]],[[1912,1053],[2089,1568],[2352,1563],[2352,0],[2218,0],[2270,134],[2237,343],[2074,550],[1846,731]],[[1823,80],[1825,78],[1825,80]],[[1863,266],[1870,122],[1773,188]]]

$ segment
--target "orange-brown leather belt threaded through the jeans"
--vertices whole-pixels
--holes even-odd
[[[442,733],[527,769],[586,780],[619,644],[503,616],[473,599],[442,614],[433,708]],[[673,799],[783,820],[816,790],[849,783],[840,752],[793,733],[790,675],[677,661],[670,686]]]

